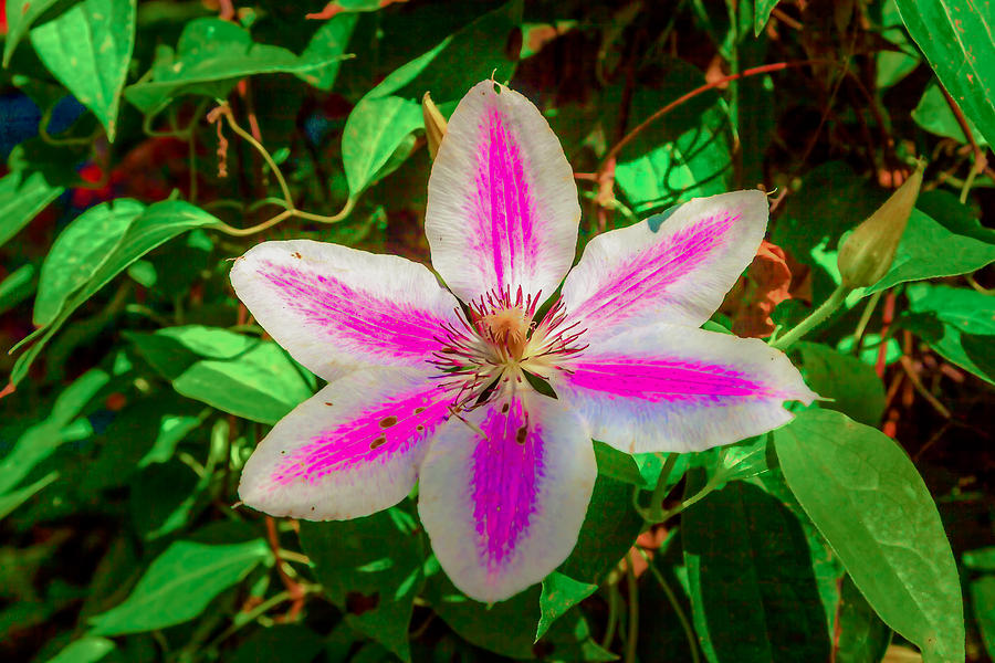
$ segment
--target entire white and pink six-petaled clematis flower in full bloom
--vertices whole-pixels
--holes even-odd
[[[429,179],[426,233],[447,287],[421,264],[304,240],[235,261],[255,319],[328,380],[260,443],[242,501],[357,518],[417,480],[442,568],[496,601],[574,548],[597,475],[591,438],[629,453],[704,450],[813,400],[779,351],[700,328],[763,239],[762,192],[598,235],[570,271],[579,218],[543,116],[484,81],[453,112]]]

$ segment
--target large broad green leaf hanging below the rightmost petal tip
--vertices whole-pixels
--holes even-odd
[[[881,619],[926,663],[963,661],[956,564],[905,452],[828,410],[800,412],[774,440],[792,492]]]

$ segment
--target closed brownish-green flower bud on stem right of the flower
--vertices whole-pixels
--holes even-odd
[[[894,252],[915,206],[919,187],[922,186],[924,167],[920,161],[915,172],[891,198],[844,238],[836,259],[844,285],[851,288],[873,285],[891,269]]]

